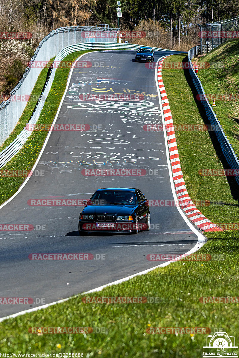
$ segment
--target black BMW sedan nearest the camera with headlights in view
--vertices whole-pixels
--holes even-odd
[[[137,188],[98,189],[79,217],[80,236],[88,232],[131,232],[150,229],[148,200]]]

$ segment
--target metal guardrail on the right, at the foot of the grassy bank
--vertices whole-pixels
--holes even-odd
[[[199,51],[198,48],[200,48],[200,46],[193,47],[188,51],[189,73],[191,75],[192,82],[197,90],[197,93],[199,95],[201,95],[203,98],[202,105],[205,108],[207,118],[208,118],[210,124],[213,126],[212,128],[215,129],[214,130],[215,135],[216,135],[218,142],[221,146],[223,154],[224,154],[228,164],[230,165],[230,168],[238,170],[239,169],[238,158],[234,152],[233,147],[230,145],[230,142],[229,142],[227,136],[225,135],[224,130],[221,127],[220,122],[219,122],[218,118],[216,117],[209,101],[207,100],[206,94],[204,92],[204,88],[203,88],[203,86],[200,82],[200,79],[197,77],[196,72],[194,71],[193,66],[192,66],[192,58],[195,57],[195,54],[197,53],[197,51]],[[236,182],[239,184],[239,177],[235,176],[235,179],[236,179]]]

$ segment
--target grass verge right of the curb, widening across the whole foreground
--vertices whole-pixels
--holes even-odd
[[[167,61],[182,61],[183,56]],[[185,61],[185,60],[184,60]],[[163,70],[163,81],[175,124],[204,124],[183,70]],[[202,177],[201,168],[222,169],[207,132],[176,132],[182,170],[192,199],[224,201],[200,208],[215,222],[234,222],[238,206],[224,177]],[[228,208],[229,207],[229,208]],[[234,221],[233,221],[234,220]],[[199,358],[206,335],[151,335],[151,327],[222,328],[238,338],[238,304],[202,304],[201,296],[238,296],[237,231],[207,233],[200,253],[223,255],[223,261],[178,261],[147,275],[106,287],[92,296],[156,296],[157,304],[84,304],[82,296],[0,323],[1,353],[83,353],[89,357]],[[29,334],[31,326],[104,327],[105,333]],[[213,333],[213,332],[212,332]]]

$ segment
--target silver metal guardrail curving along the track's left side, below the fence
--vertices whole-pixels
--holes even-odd
[[[59,61],[62,61],[64,57],[66,57],[68,54],[80,51],[80,50],[97,50],[97,49],[119,49],[119,50],[138,50],[141,47],[141,45],[137,44],[120,44],[120,43],[109,43],[109,42],[102,42],[102,43],[81,43],[81,44],[75,44],[71,46],[65,47],[61,52],[58,53],[56,58],[53,62],[53,68],[51,75],[48,79],[48,82],[46,84],[46,88],[41,94],[40,101],[37,105],[37,107],[34,110],[33,115],[31,116],[30,120],[28,121],[28,124],[36,124],[40,113],[42,111],[42,108],[44,106],[44,103],[46,101],[46,98],[48,96],[48,93],[51,89],[53,79],[56,73],[56,66],[54,63],[57,63]],[[153,50],[159,51],[164,50],[157,47],[153,47]],[[175,51],[176,52],[176,51]],[[18,151],[23,147],[25,142],[27,141],[28,137],[32,134],[32,131],[24,128],[20,134],[14,139],[13,142],[9,144],[8,147],[6,147],[3,151],[0,153],[0,168],[3,168],[3,166],[8,163],[8,161],[13,158],[13,156],[18,153]]]

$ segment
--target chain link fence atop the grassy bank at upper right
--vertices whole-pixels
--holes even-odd
[[[199,25],[199,27],[200,54],[208,53],[228,40],[239,38],[239,17]]]

